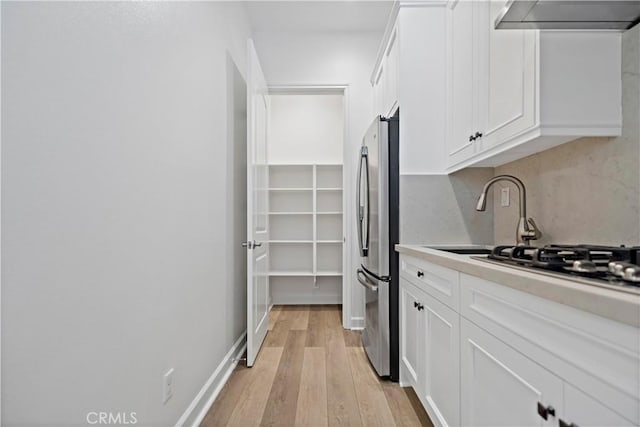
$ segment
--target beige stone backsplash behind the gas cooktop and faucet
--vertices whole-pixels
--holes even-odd
[[[617,138],[582,138],[495,168],[520,178],[527,213],[543,232],[534,244],[640,245],[640,25],[623,35],[623,130]],[[515,241],[518,192],[509,207],[494,190],[496,244]]]

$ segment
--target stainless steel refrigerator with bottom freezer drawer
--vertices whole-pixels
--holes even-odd
[[[398,348],[398,137],[399,114],[377,117],[360,147],[356,215],[365,288],[362,344],[380,376],[397,381]]]

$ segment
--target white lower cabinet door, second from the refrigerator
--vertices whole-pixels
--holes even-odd
[[[460,425],[460,315],[424,296],[423,402],[436,427]]]

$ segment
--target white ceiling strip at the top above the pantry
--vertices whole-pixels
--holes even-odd
[[[249,1],[254,31],[383,32],[393,1]]]

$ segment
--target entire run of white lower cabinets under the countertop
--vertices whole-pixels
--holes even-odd
[[[640,329],[440,265],[436,276],[405,255],[400,264],[400,379],[435,426],[640,425]],[[459,284],[455,301],[432,289],[442,280],[414,280],[412,265]]]

